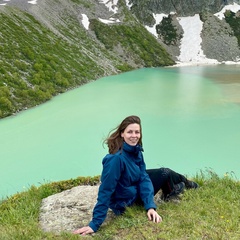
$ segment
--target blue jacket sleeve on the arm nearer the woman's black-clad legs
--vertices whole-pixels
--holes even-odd
[[[146,210],[153,208],[156,209],[157,206],[154,203],[154,189],[152,185],[152,181],[148,174],[146,173],[146,165],[144,160],[141,164],[141,178],[139,183],[139,192],[140,197],[144,203],[144,208]]]

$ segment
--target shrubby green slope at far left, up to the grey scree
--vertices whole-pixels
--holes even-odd
[[[0,21],[0,117],[103,74],[81,47],[54,35],[31,15],[9,8]]]

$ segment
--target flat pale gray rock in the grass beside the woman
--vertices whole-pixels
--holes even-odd
[[[60,233],[88,225],[99,186],[78,186],[42,200],[39,223],[45,232]],[[109,211],[106,224],[114,214]]]

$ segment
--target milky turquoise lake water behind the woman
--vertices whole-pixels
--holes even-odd
[[[0,120],[0,196],[100,175],[102,140],[128,115],[148,168],[240,178],[240,66],[140,69],[101,78]]]

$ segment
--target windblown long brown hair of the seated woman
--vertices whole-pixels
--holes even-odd
[[[110,131],[108,137],[104,140],[104,143],[108,146],[108,151],[111,154],[116,153],[122,148],[123,138],[121,134],[124,132],[126,127],[130,124],[137,123],[140,126],[140,139],[138,144],[142,146],[142,126],[141,120],[138,116],[128,116],[126,117],[119,126]]]

